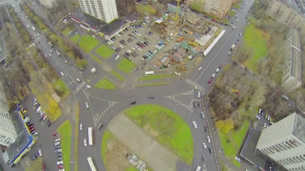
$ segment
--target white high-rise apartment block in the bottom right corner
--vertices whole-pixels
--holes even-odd
[[[263,129],[256,148],[289,171],[305,170],[305,118],[294,112]]]

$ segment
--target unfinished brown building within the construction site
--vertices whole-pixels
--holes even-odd
[[[198,33],[205,33],[209,29],[204,17],[192,11],[186,12],[183,16],[183,25]]]

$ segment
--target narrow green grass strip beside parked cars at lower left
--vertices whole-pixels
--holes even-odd
[[[57,132],[60,134],[60,142],[63,153],[63,161],[65,170],[70,171],[70,154],[71,154],[71,134],[72,125],[69,120],[64,121],[58,128]]]

